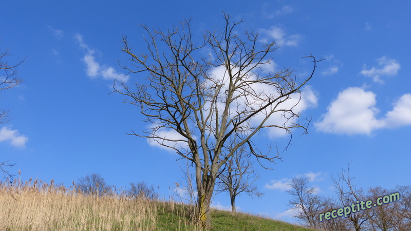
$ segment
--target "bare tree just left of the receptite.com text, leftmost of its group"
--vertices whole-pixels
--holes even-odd
[[[315,188],[308,186],[307,177],[293,178],[290,185],[291,189],[287,192],[293,198],[288,201],[288,205],[298,209],[295,217],[309,227],[318,227],[319,215],[324,208],[324,198],[317,195]]]

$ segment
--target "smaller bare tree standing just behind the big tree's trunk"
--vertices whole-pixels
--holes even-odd
[[[223,152],[230,153],[230,150],[235,147],[235,139],[231,139],[228,147],[223,148]],[[235,198],[245,192],[248,196],[263,196],[263,192],[258,191],[258,188],[253,183],[259,178],[258,172],[253,168],[253,162],[250,161],[251,153],[247,152],[246,145],[239,147],[234,154],[223,165],[219,181],[217,182],[217,192],[226,191],[230,195],[231,211],[235,212]],[[225,156],[222,156],[225,158]]]

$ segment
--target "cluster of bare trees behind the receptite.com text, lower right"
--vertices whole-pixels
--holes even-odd
[[[322,197],[308,186],[307,178],[294,178],[287,191],[293,196],[288,202],[291,207],[299,209],[296,218],[307,226],[324,230],[411,230],[411,187],[397,186],[394,189],[370,187],[367,191],[354,185],[354,177],[350,176],[349,165],[342,170],[338,178],[331,178],[334,183],[335,197]],[[382,198],[395,195],[395,200],[378,203]],[[398,197],[397,197],[398,195]],[[361,207],[365,202],[373,202],[373,206]],[[372,203],[371,203],[372,204]],[[347,207],[355,208],[349,214],[339,215],[337,210]],[[332,216],[333,212],[335,216]],[[331,217],[323,218],[324,214]]]

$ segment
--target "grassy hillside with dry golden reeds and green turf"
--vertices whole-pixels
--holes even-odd
[[[0,230],[201,230],[193,207],[130,200],[121,194],[91,197],[45,182],[0,183]],[[285,222],[212,210],[213,230],[310,230]]]

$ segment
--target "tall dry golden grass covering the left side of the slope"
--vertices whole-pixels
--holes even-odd
[[[92,197],[74,187],[0,183],[0,230],[154,230],[155,203],[121,195]]]

